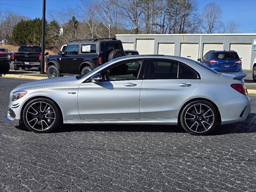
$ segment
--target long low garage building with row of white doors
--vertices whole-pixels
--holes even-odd
[[[243,69],[252,69],[256,34],[117,34],[124,49],[140,54],[165,54],[202,58],[209,50],[234,50],[242,60]]]

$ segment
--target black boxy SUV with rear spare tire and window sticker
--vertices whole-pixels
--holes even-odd
[[[122,42],[115,38],[75,40],[65,52],[47,58],[49,78],[62,73],[86,74],[92,69],[117,57],[125,56]]]

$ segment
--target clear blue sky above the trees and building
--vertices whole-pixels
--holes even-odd
[[[256,33],[256,0],[197,0],[197,2],[199,12],[202,12],[209,2],[215,2],[222,9],[222,22],[233,20],[240,24],[238,32]],[[80,0],[46,0],[46,19],[50,20],[49,12],[62,8],[76,8],[76,6],[82,6]],[[30,18],[41,18],[42,0],[0,0],[0,12],[6,9]]]

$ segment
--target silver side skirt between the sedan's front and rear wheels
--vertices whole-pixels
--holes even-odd
[[[178,118],[170,119],[86,119],[64,120],[64,124],[162,124],[177,125]]]

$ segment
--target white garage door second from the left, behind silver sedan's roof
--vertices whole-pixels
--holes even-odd
[[[154,54],[154,39],[137,39],[136,50],[141,54]]]

